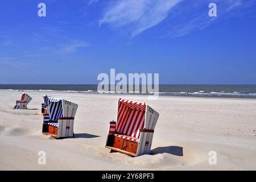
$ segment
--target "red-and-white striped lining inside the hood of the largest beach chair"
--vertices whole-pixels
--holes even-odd
[[[144,127],[146,104],[129,100],[118,101],[118,133],[139,138],[139,130]]]

